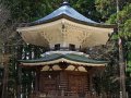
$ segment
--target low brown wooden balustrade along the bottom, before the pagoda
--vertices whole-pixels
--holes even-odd
[[[46,93],[34,93],[29,98],[119,98],[119,94],[96,94],[87,93],[83,97],[80,97],[74,91],[66,91],[64,95],[60,95],[58,91]]]

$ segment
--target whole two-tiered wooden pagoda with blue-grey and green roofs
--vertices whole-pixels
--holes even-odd
[[[106,45],[114,25],[94,22],[63,2],[16,30],[26,44],[49,49],[39,59],[20,60],[24,69],[36,69],[31,98],[91,98],[92,76],[108,62],[92,60],[83,50]]]

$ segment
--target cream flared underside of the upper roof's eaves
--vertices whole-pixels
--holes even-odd
[[[114,28],[88,26],[61,19],[36,26],[20,27],[17,32],[25,42],[32,45],[53,47],[56,44],[61,44],[62,47],[67,47],[73,44],[76,48],[80,46],[85,48],[106,45],[108,35],[114,33]]]

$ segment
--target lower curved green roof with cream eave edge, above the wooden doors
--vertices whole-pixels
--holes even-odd
[[[45,64],[53,64],[59,62],[68,62],[72,64],[82,64],[88,66],[99,66],[105,65],[108,61],[100,61],[100,60],[92,60],[88,59],[87,54],[78,54],[75,52],[72,53],[45,53],[44,57],[36,60],[20,60],[23,65],[45,65]]]

